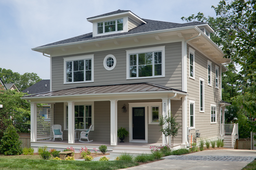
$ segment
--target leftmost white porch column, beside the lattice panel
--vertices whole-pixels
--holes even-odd
[[[36,104],[30,103],[30,141],[36,142]]]

